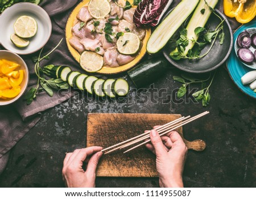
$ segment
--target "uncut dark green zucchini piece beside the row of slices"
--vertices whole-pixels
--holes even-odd
[[[142,87],[154,82],[162,76],[168,69],[170,63],[164,57],[151,58],[150,60],[139,63],[128,71],[135,86]]]

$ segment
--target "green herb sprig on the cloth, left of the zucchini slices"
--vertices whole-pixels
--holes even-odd
[[[40,74],[40,71],[42,72],[42,69],[40,67],[40,61],[44,59],[48,59],[49,56],[53,53],[53,51],[60,45],[62,40],[63,39],[61,39],[59,44],[57,44],[55,48],[53,48],[51,52],[49,52],[45,56],[41,57],[44,49],[42,48],[39,53],[39,56],[37,58],[35,57],[32,58],[32,61],[35,62],[34,70],[35,70],[36,76],[38,77],[38,82],[36,84],[36,87],[30,88],[30,90],[24,96],[24,100],[27,101],[28,105],[31,104],[32,101],[36,99],[36,95],[38,95],[39,92],[43,90],[46,91],[49,96],[53,96],[53,90],[67,89],[69,87],[68,84],[66,82],[63,82],[61,79],[46,79],[45,77],[42,77]],[[42,88],[39,88],[40,85],[42,86]]]

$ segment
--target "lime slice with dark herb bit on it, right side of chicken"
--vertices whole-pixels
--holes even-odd
[[[126,32],[117,40],[117,50],[121,54],[135,54],[139,50],[141,40],[134,33]]]

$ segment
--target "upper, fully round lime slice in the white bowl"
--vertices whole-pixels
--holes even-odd
[[[38,24],[31,16],[20,16],[14,23],[14,31],[19,37],[30,38],[38,31]]]

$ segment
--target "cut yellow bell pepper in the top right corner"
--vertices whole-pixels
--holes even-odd
[[[256,0],[224,0],[224,13],[237,22],[248,23],[256,16]]]

